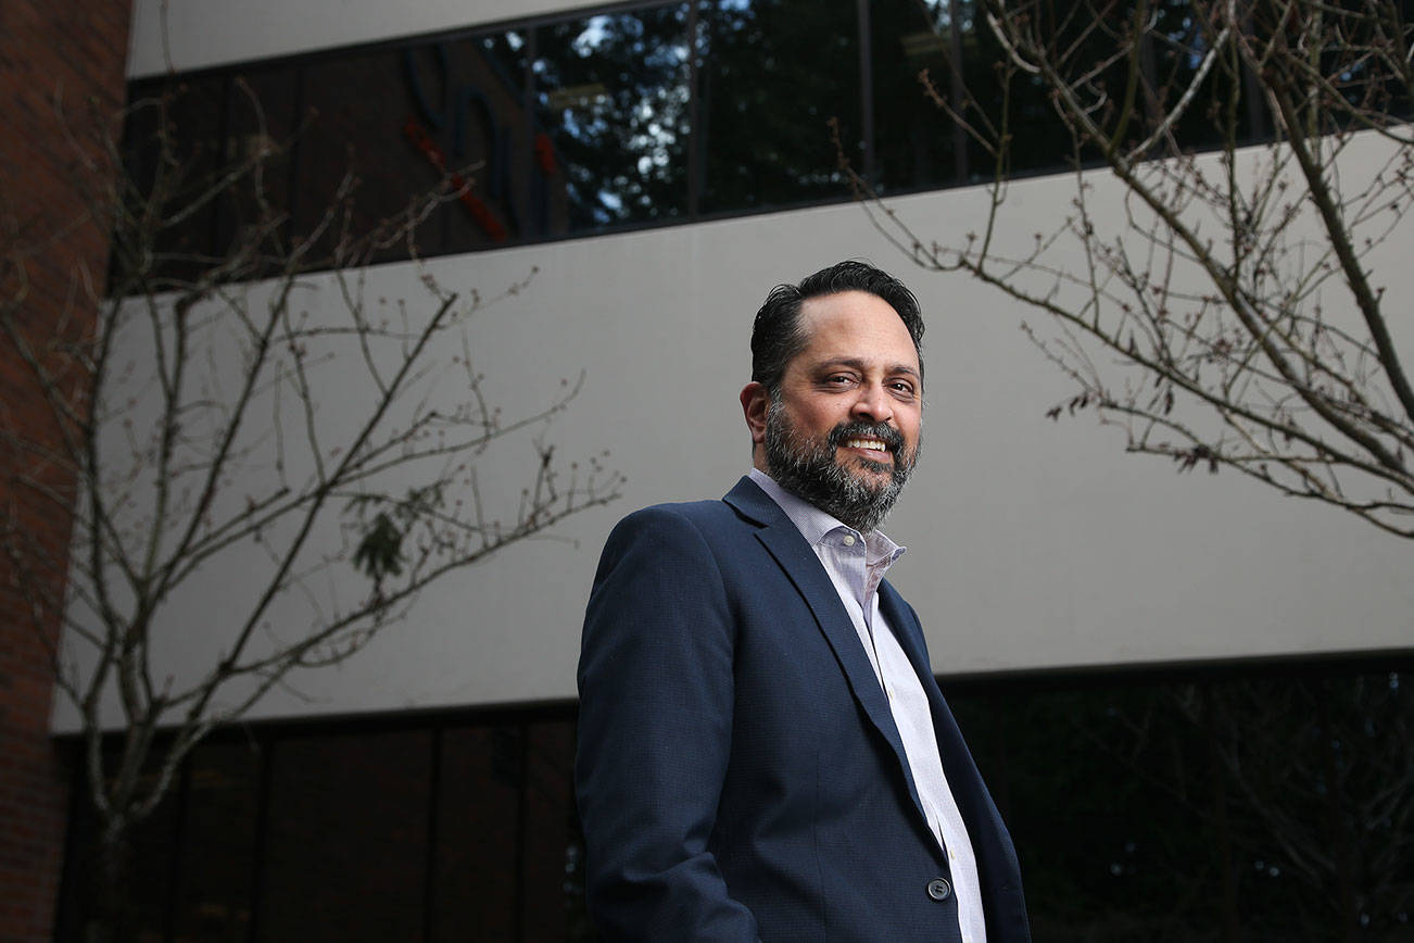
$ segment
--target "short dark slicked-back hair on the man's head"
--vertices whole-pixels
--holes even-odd
[[[887,301],[908,328],[923,370],[923,317],[918,298],[902,281],[867,262],[840,262],[807,276],[800,284],[778,284],[766,295],[751,328],[751,379],[771,396],[781,389],[786,365],[805,349],[807,338],[800,329],[800,307],[807,298],[841,291],[865,291]]]

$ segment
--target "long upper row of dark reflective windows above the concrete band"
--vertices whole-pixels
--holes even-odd
[[[1189,0],[1145,10],[1140,68],[1154,95],[1172,98],[1202,61],[1203,24]],[[1109,33],[1072,11],[1036,7],[1069,71],[1123,86],[1127,59],[1097,64],[1113,57],[1133,4],[1114,7]],[[1350,35],[1366,28],[1331,16]],[[362,256],[390,262],[847,201],[841,153],[885,194],[991,180],[988,141],[1000,136],[1007,172],[1069,167],[1072,136],[1041,81],[1004,81],[1005,62],[981,0],[673,0],[137,82],[134,102],[168,98],[174,151],[158,153],[154,107],[133,109],[127,151],[156,195],[143,209],[165,274],[208,269],[262,221],[247,178],[189,206],[260,154],[267,206],[288,218],[266,233],[269,264],[322,233],[305,264],[325,266],[318,256],[339,238],[378,230],[443,185],[413,239]],[[1226,102],[1237,105],[1239,140],[1270,133],[1253,78],[1226,68],[1175,127],[1179,147],[1215,146]],[[1342,88],[1387,92],[1394,112],[1407,109],[1376,72],[1353,62]],[[1155,107],[1152,95],[1140,99],[1135,140]],[[339,208],[349,174],[356,187]],[[120,242],[115,257],[120,281],[137,256]]]

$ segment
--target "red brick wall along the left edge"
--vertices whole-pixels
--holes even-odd
[[[0,259],[16,246],[40,249],[27,259],[21,320],[42,336],[68,314],[76,329],[92,325],[90,298],[75,288],[86,267],[102,291],[106,235],[78,223],[81,185],[99,182],[66,139],[55,110],[79,140],[92,140],[98,115],[123,102],[127,0],[4,0],[0,7]],[[0,303],[14,297],[14,269],[0,270]],[[41,441],[54,434],[33,382],[8,341],[0,338],[0,421]],[[37,506],[11,481],[17,461],[0,455],[0,523],[8,516],[33,546],[59,554],[68,540],[64,515]],[[48,479],[62,485],[54,472]],[[14,568],[0,557],[0,943],[48,940],[62,867],[68,772],[49,739],[54,681],[30,608],[13,587]],[[59,577],[51,577],[57,581]],[[52,612],[40,619],[51,640]]]

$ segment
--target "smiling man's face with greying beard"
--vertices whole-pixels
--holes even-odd
[[[868,533],[918,459],[918,352],[894,308],[864,291],[807,300],[800,327],[809,339],[766,413],[766,471],[786,491]]]

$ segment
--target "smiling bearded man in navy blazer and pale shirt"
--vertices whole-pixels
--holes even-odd
[[[741,392],[751,474],[609,536],[575,769],[608,939],[1029,942],[1011,838],[882,581],[922,334],[872,266],[778,286]]]

